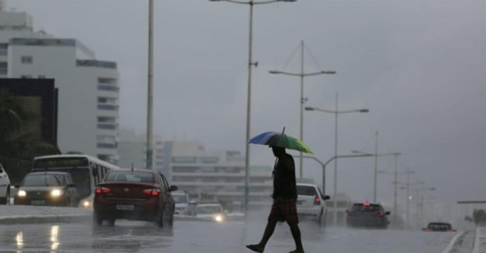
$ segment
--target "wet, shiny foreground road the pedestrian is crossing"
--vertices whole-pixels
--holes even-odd
[[[239,253],[257,242],[264,223],[176,221],[172,229],[117,221],[114,227],[86,223],[0,226],[0,252]],[[319,228],[301,223],[306,252],[440,253],[455,233]],[[265,252],[294,249],[287,225],[277,226]]]

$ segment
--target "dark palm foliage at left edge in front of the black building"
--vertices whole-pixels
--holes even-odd
[[[60,154],[58,147],[41,141],[39,121],[20,98],[0,90],[0,163],[13,184],[30,171],[34,157]]]

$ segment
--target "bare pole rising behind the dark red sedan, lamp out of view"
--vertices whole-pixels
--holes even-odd
[[[153,96],[154,96],[154,0],[149,0],[148,7],[148,90],[147,90],[147,157],[146,167],[152,169],[152,131],[153,131]]]

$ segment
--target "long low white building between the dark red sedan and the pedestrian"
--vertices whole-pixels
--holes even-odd
[[[193,195],[213,195],[230,202],[233,209],[244,203],[244,156],[237,151],[209,151],[199,143],[173,142],[171,183]],[[271,205],[272,167],[250,169],[251,207]]]

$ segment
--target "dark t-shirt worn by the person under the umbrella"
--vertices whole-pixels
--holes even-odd
[[[273,170],[273,198],[297,198],[295,163],[291,155],[280,157]]]

